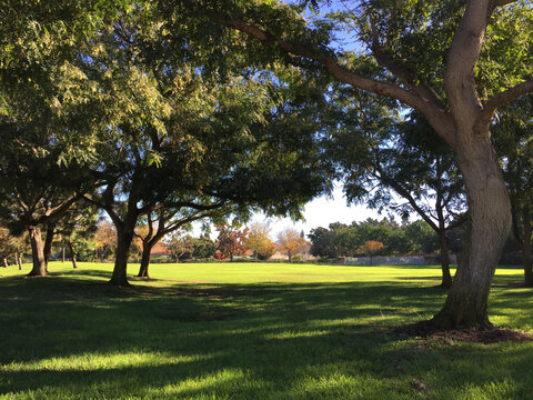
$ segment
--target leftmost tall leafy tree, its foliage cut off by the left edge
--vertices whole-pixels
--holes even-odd
[[[117,6],[108,6],[2,4],[0,213],[14,233],[29,232],[30,276],[47,273],[54,223],[91,186],[86,164],[93,160],[94,88],[72,61],[98,21],[112,19]]]

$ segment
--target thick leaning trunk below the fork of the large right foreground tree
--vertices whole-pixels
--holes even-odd
[[[447,299],[433,322],[444,329],[492,327],[487,316],[491,281],[511,228],[511,201],[486,139],[470,136],[456,146],[469,203],[464,257]],[[463,139],[462,136],[457,136]]]

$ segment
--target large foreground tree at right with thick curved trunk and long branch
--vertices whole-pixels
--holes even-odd
[[[184,2],[274,56],[323,69],[340,82],[390,97],[424,116],[457,158],[470,220],[467,256],[432,322],[441,328],[491,327],[489,291],[511,227],[511,202],[490,128],[499,107],[533,91],[531,4],[370,0],[346,10],[341,2],[333,24],[309,26],[299,9],[278,2],[240,7],[237,1],[207,1],[199,4],[202,9]],[[350,30],[365,47],[336,51],[330,46],[332,28]],[[372,63],[389,78],[375,79]]]

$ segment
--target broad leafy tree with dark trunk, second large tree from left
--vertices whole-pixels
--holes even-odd
[[[168,224],[160,220],[159,240],[167,228],[211,217],[208,211],[244,216],[260,208],[298,214],[324,181],[310,137],[319,109],[304,111],[310,84],[301,74],[284,69],[281,82],[249,70],[208,73],[198,59],[158,52],[167,44],[164,32],[148,11],[135,10],[109,27],[94,44],[103,50],[82,60],[109,103],[112,123],[112,134],[107,128],[107,139],[97,144],[102,159],[94,174],[104,187],[88,200],[117,227],[111,278],[117,286],[128,284],[128,254],[140,217],[162,212],[169,218]],[[211,50],[199,48],[200,54]],[[295,80],[303,94],[289,92],[288,80]]]

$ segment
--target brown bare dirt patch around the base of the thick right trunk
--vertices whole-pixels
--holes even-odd
[[[403,326],[394,330],[395,333],[403,333],[410,337],[422,337],[443,341],[456,340],[471,343],[492,344],[502,341],[525,342],[533,341],[533,336],[527,332],[515,331],[506,328],[490,329],[451,329],[443,330],[431,321],[422,321]]]

